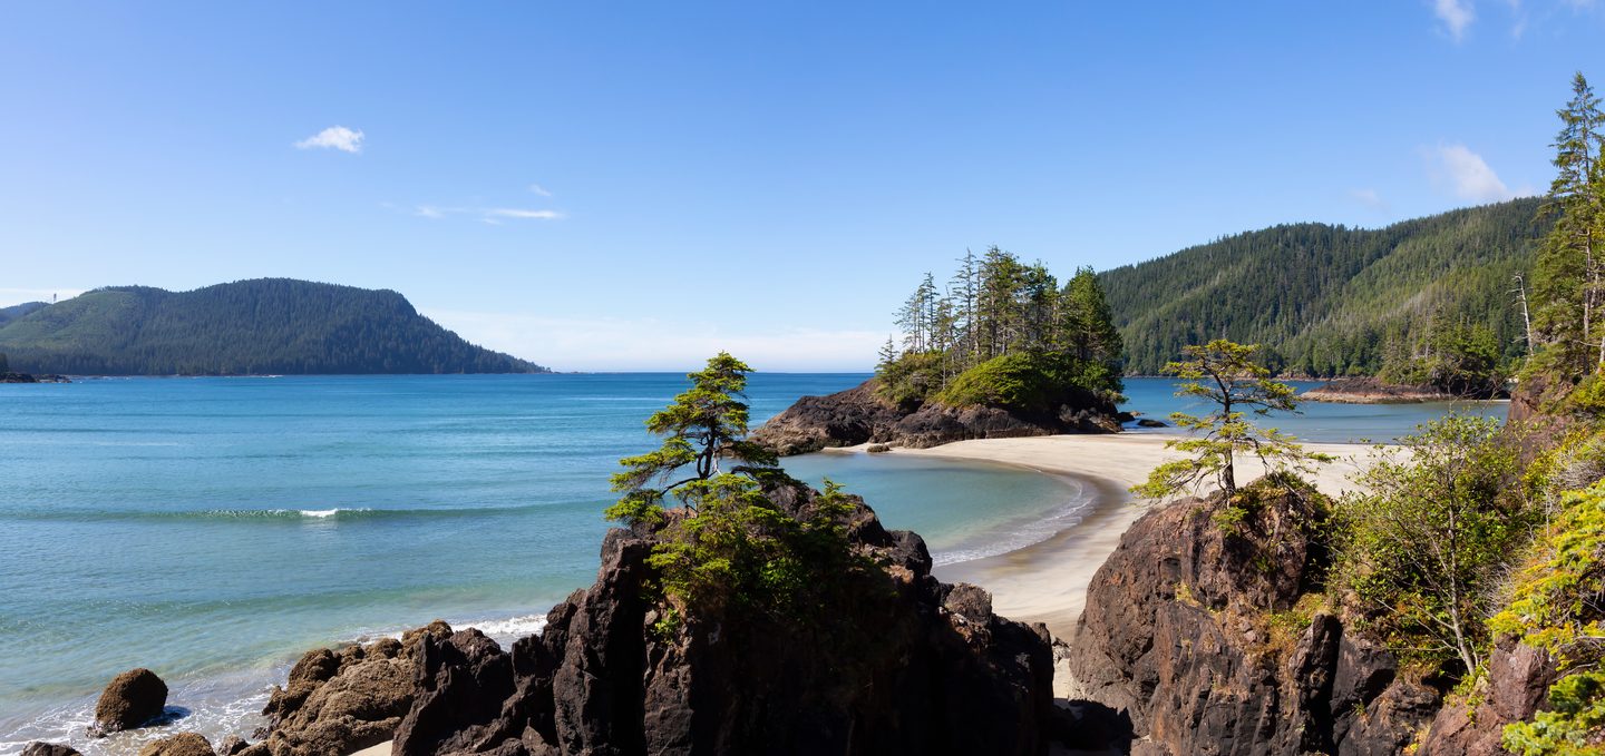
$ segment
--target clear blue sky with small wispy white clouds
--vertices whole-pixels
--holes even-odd
[[[862,370],[966,247],[1542,191],[1600,42],[1578,0],[6,3],[0,304],[286,275],[560,370]]]

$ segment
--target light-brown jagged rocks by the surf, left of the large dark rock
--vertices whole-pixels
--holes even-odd
[[[262,711],[265,740],[244,748],[247,756],[318,756],[351,753],[395,737],[412,708],[414,676],[427,639],[451,636],[435,621],[406,633],[339,652],[308,652],[291,668]]]

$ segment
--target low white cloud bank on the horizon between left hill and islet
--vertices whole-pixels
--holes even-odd
[[[690,370],[721,349],[758,370],[868,372],[883,332],[732,333],[698,322],[429,311],[459,336],[555,370]]]

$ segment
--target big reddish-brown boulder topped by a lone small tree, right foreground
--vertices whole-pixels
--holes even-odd
[[[1430,721],[1436,690],[1337,617],[1294,612],[1324,565],[1310,495],[1263,490],[1233,527],[1218,497],[1156,509],[1098,570],[1069,668],[1130,716],[1133,753],[1392,754]]]

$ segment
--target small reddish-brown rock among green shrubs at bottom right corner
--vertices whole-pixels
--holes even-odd
[[[1501,756],[1504,727],[1531,721],[1546,708],[1549,686],[1560,679],[1555,660],[1541,649],[1502,639],[1488,657],[1488,676],[1478,682],[1481,702],[1456,700],[1443,706],[1420,753]]]

